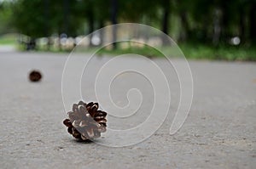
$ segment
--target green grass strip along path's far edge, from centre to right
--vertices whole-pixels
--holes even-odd
[[[165,51],[167,57],[177,57],[173,54],[172,48],[163,47],[160,50],[152,48],[148,45],[143,47],[130,46],[129,48],[121,48],[121,43],[119,42],[119,48],[117,50],[109,50],[108,47],[102,48],[97,54],[139,54],[148,58],[159,58],[164,55],[160,51]],[[229,61],[256,61],[256,49],[252,47],[235,47],[235,46],[220,46],[218,48],[212,48],[209,45],[192,44],[192,43],[182,43],[179,45],[180,49],[183,51],[186,59],[219,59],[219,60],[229,60]],[[175,52],[176,50],[174,50]]]

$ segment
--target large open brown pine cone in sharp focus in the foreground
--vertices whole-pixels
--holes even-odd
[[[101,137],[101,132],[106,132],[107,113],[98,107],[99,104],[93,102],[73,104],[73,111],[67,113],[69,119],[63,121],[67,132],[81,140]]]

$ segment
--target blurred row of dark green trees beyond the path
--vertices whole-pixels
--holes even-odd
[[[166,34],[178,27],[180,42],[226,44],[232,37],[242,43],[256,40],[256,0],[16,0],[14,11],[1,10],[0,32],[15,25],[32,38],[53,33],[89,34],[104,25],[137,22]],[[1,3],[0,8],[3,8]],[[13,18],[9,21],[9,18]],[[171,21],[176,20],[173,24]],[[114,35],[114,34],[113,34]],[[103,35],[100,35],[101,39]],[[114,37],[113,37],[114,38]]]

